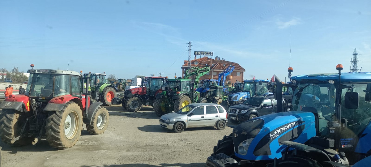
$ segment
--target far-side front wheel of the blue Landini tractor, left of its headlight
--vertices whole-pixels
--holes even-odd
[[[214,151],[211,156],[219,153],[224,153],[228,156],[231,156],[234,154],[233,147],[233,134],[231,133],[228,136],[224,135],[223,139],[219,140],[218,144],[214,146]]]

